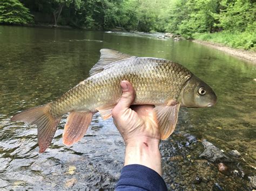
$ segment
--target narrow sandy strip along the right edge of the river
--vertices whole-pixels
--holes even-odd
[[[235,49],[235,48],[230,48],[225,45],[221,45],[218,43],[211,43],[208,41],[201,41],[201,40],[192,40],[195,43],[199,43],[202,45],[206,45],[215,49],[218,49],[220,51],[226,52],[228,54],[231,54],[233,56],[237,56],[238,58],[248,60],[254,64],[256,64],[256,52],[252,51],[245,51],[243,49]]]

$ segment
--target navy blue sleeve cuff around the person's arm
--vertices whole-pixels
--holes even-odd
[[[116,190],[167,190],[161,176],[143,165],[127,165],[121,171]]]

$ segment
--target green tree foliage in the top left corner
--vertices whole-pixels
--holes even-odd
[[[25,8],[18,0],[0,1],[0,23],[3,24],[28,24],[33,18],[29,9]]]

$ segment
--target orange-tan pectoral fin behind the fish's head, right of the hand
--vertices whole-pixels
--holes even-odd
[[[172,103],[154,108],[162,140],[167,139],[174,131],[178,121],[179,106],[179,103]]]

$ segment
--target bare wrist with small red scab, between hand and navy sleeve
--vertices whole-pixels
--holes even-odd
[[[161,175],[159,139],[134,138],[126,143],[125,166],[139,164],[149,167]]]

